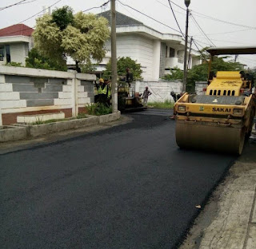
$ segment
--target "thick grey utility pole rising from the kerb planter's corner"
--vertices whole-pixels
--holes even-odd
[[[115,0],[111,0],[111,85],[112,85],[112,113],[118,112],[118,69],[117,69],[117,36]]]

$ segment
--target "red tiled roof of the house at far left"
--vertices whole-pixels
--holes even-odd
[[[0,30],[0,37],[23,35],[30,37],[34,29],[24,24],[15,24]]]

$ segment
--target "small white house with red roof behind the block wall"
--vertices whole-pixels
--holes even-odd
[[[24,24],[16,24],[0,30],[0,65],[11,61],[25,65],[25,59],[32,46],[33,31]]]

